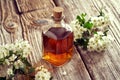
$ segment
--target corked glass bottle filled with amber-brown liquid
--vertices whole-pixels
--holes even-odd
[[[43,59],[54,66],[68,62],[73,56],[73,32],[62,21],[63,8],[53,9],[52,25],[43,32]]]

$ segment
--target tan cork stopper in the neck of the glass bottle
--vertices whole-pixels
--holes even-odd
[[[53,9],[53,17],[55,20],[60,20],[62,18],[63,8],[62,7],[54,7]]]

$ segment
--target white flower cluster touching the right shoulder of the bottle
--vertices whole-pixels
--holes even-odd
[[[86,28],[80,26],[80,24],[76,23],[77,21],[71,22],[71,28],[74,31],[74,40],[81,38],[84,31],[87,31]]]

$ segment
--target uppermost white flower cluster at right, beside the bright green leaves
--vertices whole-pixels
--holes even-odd
[[[99,17],[91,17],[90,21],[93,23],[93,28],[106,28],[110,22],[109,16],[99,16]]]

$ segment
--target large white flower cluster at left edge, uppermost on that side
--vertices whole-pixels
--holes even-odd
[[[5,61],[6,63],[8,63],[8,61],[12,62],[15,60],[17,55],[26,58],[30,51],[31,46],[28,41],[17,40],[15,43],[0,45],[0,59],[10,56],[9,59]],[[10,52],[12,52],[13,54],[11,55]]]

